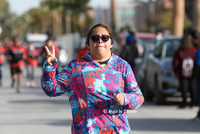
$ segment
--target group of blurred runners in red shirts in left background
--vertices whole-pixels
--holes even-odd
[[[36,86],[34,74],[38,66],[37,58],[42,55],[44,61],[47,55],[44,46],[48,46],[49,49],[55,46],[56,54],[59,54],[59,47],[53,37],[49,37],[40,49],[35,48],[33,42],[27,44],[27,46],[23,45],[18,36],[14,36],[12,40],[7,37],[4,42],[0,42],[0,86],[3,85],[3,65],[8,62],[12,79],[11,87],[15,88],[17,93],[20,93],[24,69],[26,69],[26,86]]]

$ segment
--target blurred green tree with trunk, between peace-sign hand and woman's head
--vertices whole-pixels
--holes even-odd
[[[77,30],[77,18],[87,8],[88,2],[89,0],[43,0],[41,5],[61,14],[63,32],[70,33]]]

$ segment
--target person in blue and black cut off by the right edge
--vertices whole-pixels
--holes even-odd
[[[196,118],[194,118],[193,120],[200,122],[200,38],[198,39],[198,41],[199,41],[197,44],[198,51],[195,56],[192,78],[195,82],[195,89],[196,89],[197,103],[199,106],[199,111],[197,113]]]

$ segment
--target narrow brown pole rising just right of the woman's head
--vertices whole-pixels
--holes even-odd
[[[116,13],[115,13],[115,0],[111,0],[111,16],[112,16],[112,33],[113,37],[115,37],[115,27],[116,27]]]

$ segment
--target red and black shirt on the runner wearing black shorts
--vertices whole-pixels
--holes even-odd
[[[23,56],[26,55],[26,48],[23,45],[11,46],[9,55],[12,56],[12,60],[10,61],[11,67],[24,67]]]

